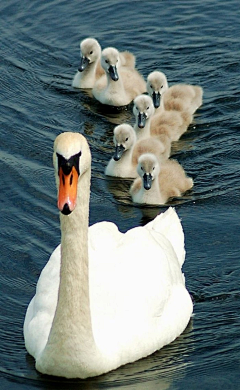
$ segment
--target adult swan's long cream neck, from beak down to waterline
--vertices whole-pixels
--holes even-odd
[[[96,355],[92,333],[88,283],[88,214],[90,169],[78,186],[75,210],[61,215],[61,270],[58,302],[52,328],[45,349],[36,367],[43,373],[61,376],[69,369],[69,376],[84,375],[91,370],[89,356]],[[75,351],[75,353],[73,353]],[[69,354],[71,364],[69,366]],[[90,364],[91,365],[91,364]]]

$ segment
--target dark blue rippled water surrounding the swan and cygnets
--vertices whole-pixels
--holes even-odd
[[[2,0],[0,3],[0,388],[240,389],[240,7],[238,0]],[[166,207],[136,207],[129,181],[107,179],[112,130],[133,122],[103,108],[71,80],[79,41],[133,51],[144,77],[204,88],[194,123],[174,158],[195,186],[171,202],[186,236],[184,272],[194,300],[186,331],[154,355],[99,378],[38,374],[22,326],[39,273],[60,240],[52,144],[80,131],[92,155],[90,222],[120,230]]]

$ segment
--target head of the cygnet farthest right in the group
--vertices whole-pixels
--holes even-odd
[[[147,92],[153,99],[155,108],[160,106],[160,97],[168,89],[168,82],[163,72],[154,71],[147,77]]]

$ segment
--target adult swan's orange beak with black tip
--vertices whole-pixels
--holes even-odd
[[[66,175],[59,168],[58,209],[65,215],[70,214],[76,207],[78,172],[73,166]]]

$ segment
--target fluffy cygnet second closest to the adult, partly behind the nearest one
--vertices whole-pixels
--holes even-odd
[[[137,177],[138,158],[142,153],[154,153],[158,158],[170,156],[171,142],[163,144],[152,137],[137,141],[136,132],[127,123],[118,125],[113,130],[115,152],[105,168],[105,175],[122,178]]]

